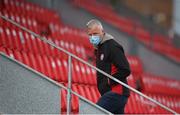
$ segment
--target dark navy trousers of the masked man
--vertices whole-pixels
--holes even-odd
[[[124,108],[127,101],[127,96],[109,91],[98,100],[97,105],[113,114],[124,114]]]

